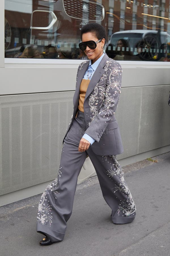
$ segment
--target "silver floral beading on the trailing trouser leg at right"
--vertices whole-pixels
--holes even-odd
[[[115,185],[112,189],[114,189],[114,193],[116,191],[122,191],[123,193],[126,194],[127,200],[125,201],[120,201],[120,204],[118,206],[118,215],[120,214],[120,211],[125,215],[125,216],[130,216],[131,214],[134,214],[136,212],[136,206],[135,203],[132,199],[132,195],[129,191],[129,188],[124,180],[124,175],[122,172],[122,168],[117,162],[117,156],[103,156],[105,158],[105,161],[107,161],[107,158],[111,158],[114,160],[114,164],[110,167],[109,170],[107,170],[107,175],[109,176],[110,179],[114,176],[119,176],[120,182],[118,185]]]

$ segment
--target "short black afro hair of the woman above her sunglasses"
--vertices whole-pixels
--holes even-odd
[[[98,23],[88,23],[82,27],[80,30],[80,36],[82,40],[82,34],[92,32],[95,34],[98,40],[105,38],[106,40],[106,30],[103,26]]]

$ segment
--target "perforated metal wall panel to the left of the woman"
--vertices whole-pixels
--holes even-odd
[[[0,195],[57,176],[73,95],[69,91],[0,96]]]

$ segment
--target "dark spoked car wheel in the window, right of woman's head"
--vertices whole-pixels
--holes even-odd
[[[158,42],[153,36],[145,36],[137,44],[137,52],[142,60],[158,60]]]

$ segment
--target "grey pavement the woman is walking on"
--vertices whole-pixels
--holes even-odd
[[[132,223],[114,225],[96,176],[77,185],[65,239],[41,246],[36,232],[40,195],[0,207],[1,256],[170,255],[170,152],[123,168],[137,206]],[[44,188],[45,189],[45,188]]]

